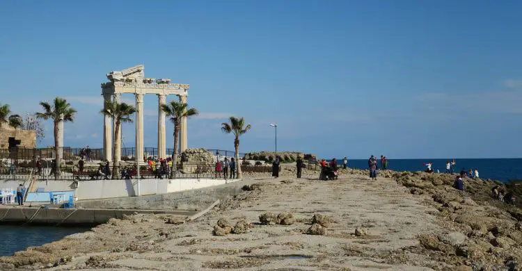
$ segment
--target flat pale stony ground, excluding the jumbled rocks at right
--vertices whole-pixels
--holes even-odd
[[[3,268],[50,270],[441,270],[451,265],[411,252],[418,236],[443,230],[407,188],[391,179],[348,175],[338,181],[279,178],[223,202],[198,220],[166,223],[165,215],[111,220],[93,232],[19,252]],[[296,222],[262,225],[265,212],[293,213]],[[306,234],[315,213],[333,223]],[[213,236],[217,220],[253,223],[247,233]],[[171,220],[175,223],[175,220]],[[356,228],[367,234],[355,236]],[[57,261],[55,259],[58,259]],[[61,259],[61,260],[60,260]],[[54,262],[56,261],[56,262]],[[54,268],[51,268],[53,265]]]

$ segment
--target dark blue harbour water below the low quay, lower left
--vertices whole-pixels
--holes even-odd
[[[27,247],[52,243],[73,233],[89,231],[84,227],[1,225],[0,256],[10,256]]]

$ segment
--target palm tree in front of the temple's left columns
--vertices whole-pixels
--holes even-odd
[[[121,160],[120,148],[120,130],[122,122],[132,122],[130,115],[136,112],[136,108],[129,104],[118,103],[118,101],[105,101],[104,109],[100,111],[103,115],[108,115],[116,120],[116,127],[114,127],[114,149],[113,149],[113,169],[112,178],[118,178],[118,165]]]

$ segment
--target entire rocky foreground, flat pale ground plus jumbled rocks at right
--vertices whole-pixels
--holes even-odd
[[[285,165],[187,222],[132,215],[1,257],[31,270],[519,270],[522,211],[491,197],[496,183],[424,172],[340,170],[303,179]],[[502,184],[500,184],[502,185]],[[520,201],[520,194],[517,196]],[[285,269],[286,268],[286,269]]]

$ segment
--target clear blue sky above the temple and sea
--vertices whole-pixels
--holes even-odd
[[[232,150],[219,127],[236,115],[252,124],[241,151],[274,149],[276,122],[278,150],[323,157],[521,157],[521,10],[509,0],[3,1],[0,103],[24,114],[66,97],[79,112],[65,145],[101,147],[104,75],[143,64],[147,77],[191,85],[201,115],[189,147]],[[148,95],[145,146],[156,142]]]

